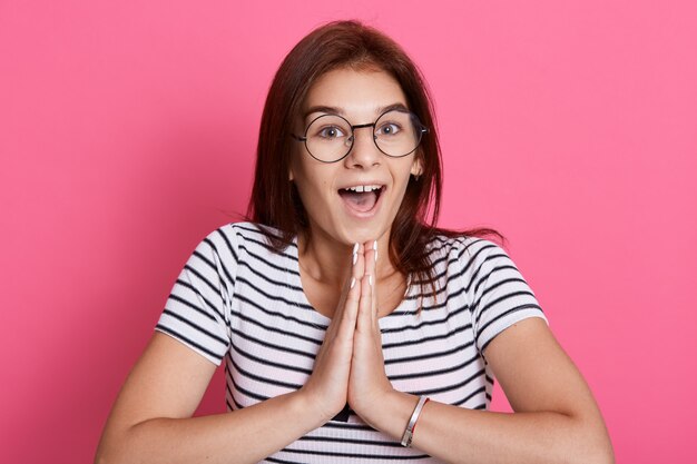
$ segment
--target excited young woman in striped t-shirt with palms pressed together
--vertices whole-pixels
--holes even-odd
[[[433,226],[440,192],[400,47],[356,22],[305,37],[268,93],[252,220],[192,255],[97,462],[612,462],[526,280],[487,230]],[[192,417],[223,361],[228,412]],[[485,411],[494,375],[516,413]]]

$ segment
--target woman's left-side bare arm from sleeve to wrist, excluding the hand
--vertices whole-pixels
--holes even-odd
[[[257,462],[322,424],[302,392],[190,417],[216,366],[155,333],[121,389],[97,463]]]

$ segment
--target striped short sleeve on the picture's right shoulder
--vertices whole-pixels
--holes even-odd
[[[472,326],[482,356],[489,343],[511,325],[528,317],[547,323],[532,289],[503,248],[479,239],[467,249]]]

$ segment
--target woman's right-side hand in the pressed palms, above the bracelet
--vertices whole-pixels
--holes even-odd
[[[357,260],[359,264],[363,261],[364,273],[360,280],[361,295],[348,378],[348,405],[367,424],[371,424],[371,413],[380,409],[385,394],[393,392],[385,375],[382,335],[377,324],[376,248],[377,241],[369,241],[363,246],[365,251],[359,254]]]

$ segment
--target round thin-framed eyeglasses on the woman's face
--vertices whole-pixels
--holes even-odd
[[[322,115],[310,122],[303,137],[293,135],[293,138],[304,141],[307,152],[317,161],[335,162],[351,152],[355,129],[365,127],[373,129],[377,149],[393,158],[412,154],[429,131],[413,112],[392,109],[380,115],[375,122],[362,125],[352,125],[338,115]]]

